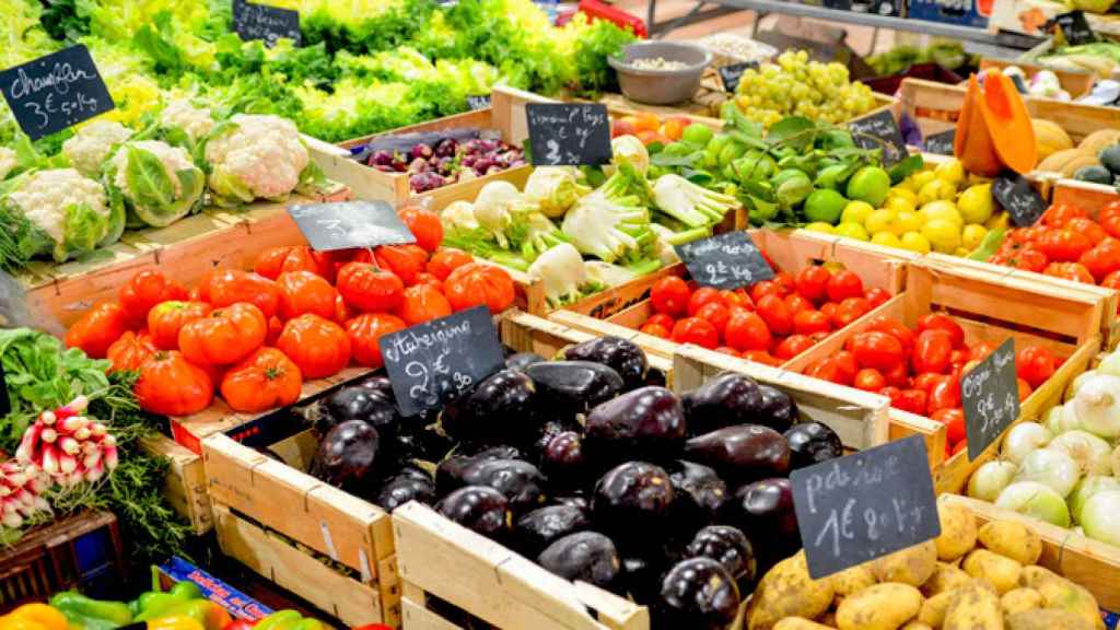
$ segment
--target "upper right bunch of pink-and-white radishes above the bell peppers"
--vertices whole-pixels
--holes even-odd
[[[16,458],[63,487],[97,481],[116,467],[116,438],[104,424],[82,415],[88,404],[78,396],[65,407],[39,414],[24,432]]]

